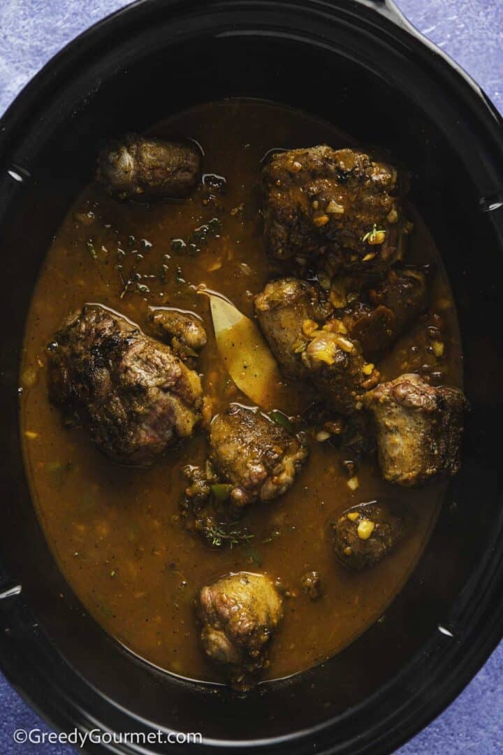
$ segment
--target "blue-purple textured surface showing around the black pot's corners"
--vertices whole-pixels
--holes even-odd
[[[0,0],[0,113],[63,45],[127,0]],[[407,17],[462,64],[503,112],[503,0],[398,0]],[[503,644],[459,698],[400,755],[503,752]],[[70,755],[14,744],[15,729],[50,731],[0,676],[0,755]]]

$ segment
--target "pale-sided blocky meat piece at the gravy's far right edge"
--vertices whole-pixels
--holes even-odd
[[[419,485],[459,470],[466,407],[459,388],[435,388],[417,374],[403,374],[367,393],[364,403],[373,413],[379,466],[388,482]]]

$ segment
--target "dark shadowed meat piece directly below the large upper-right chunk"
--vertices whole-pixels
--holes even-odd
[[[427,298],[425,273],[389,270],[385,280],[370,290],[369,303],[350,304],[341,319],[363,354],[378,359],[422,313]]]

